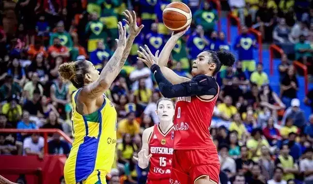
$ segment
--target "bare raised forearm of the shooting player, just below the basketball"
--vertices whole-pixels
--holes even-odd
[[[158,58],[158,61],[157,61],[157,64],[161,67],[161,66],[166,66],[167,65],[167,62],[169,61],[170,59],[170,55],[171,55],[171,52],[174,48],[174,46],[176,45],[176,42],[177,42],[178,38],[172,36],[165,44],[165,46],[163,47],[160,55],[159,55],[159,58]]]

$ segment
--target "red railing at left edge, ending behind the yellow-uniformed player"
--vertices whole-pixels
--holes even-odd
[[[72,139],[69,138],[63,131],[60,129],[37,129],[37,130],[24,130],[24,129],[0,129],[0,133],[39,133],[43,134],[45,138],[45,145],[44,145],[44,153],[48,154],[48,134],[49,133],[56,133],[62,136],[68,143],[73,143]]]

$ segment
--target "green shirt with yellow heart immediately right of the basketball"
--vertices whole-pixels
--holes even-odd
[[[219,19],[215,10],[197,10],[192,17],[195,20],[196,25],[200,24],[204,31],[214,30],[215,21]]]

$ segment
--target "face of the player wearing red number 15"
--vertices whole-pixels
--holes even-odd
[[[160,122],[172,122],[174,117],[175,109],[172,101],[162,100],[157,106],[157,116]]]

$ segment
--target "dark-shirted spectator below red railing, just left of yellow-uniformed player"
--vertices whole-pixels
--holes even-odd
[[[53,134],[53,139],[48,142],[49,154],[69,154],[71,149],[69,144],[60,139],[60,135]]]

